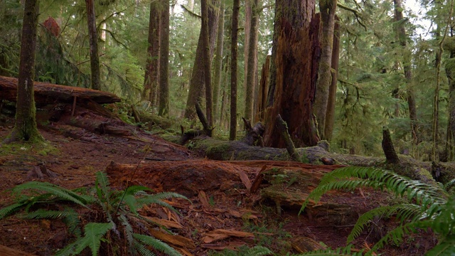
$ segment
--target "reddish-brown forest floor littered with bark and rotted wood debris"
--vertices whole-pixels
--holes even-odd
[[[78,115],[82,115],[81,112],[76,112]],[[4,139],[13,127],[12,117],[2,121],[0,139]],[[136,166],[153,163],[159,169],[160,164],[165,166],[174,161],[183,161],[191,165],[194,172],[204,172],[208,166],[217,170],[229,168],[227,163],[203,159],[186,147],[166,142],[151,134],[112,136],[72,127],[68,122],[45,122],[44,125],[39,125],[39,129],[48,144],[44,148],[31,144],[3,145],[0,148],[0,207],[11,203],[10,188],[31,180],[55,183],[65,188],[95,186],[95,173],[105,170],[112,162]],[[28,177],[38,164],[45,164],[57,177]],[[260,169],[260,166],[242,167],[251,181]],[[149,181],[147,186],[157,192],[166,188],[183,193],[191,203],[173,200],[173,206],[181,212],[180,216],[158,207],[148,208],[146,213],[141,213],[178,223],[180,228],[172,229],[173,233],[186,240],[183,240],[183,245],[173,246],[186,255],[214,255],[215,252],[223,255],[223,249],[235,249],[241,245],[263,245],[277,255],[291,255],[299,252],[299,241],[304,239],[322,242],[329,247],[341,247],[346,245],[348,233],[360,213],[393,200],[392,196],[378,191],[337,193],[331,200],[352,206],[355,213],[350,220],[339,225],[331,223],[328,216],[298,215],[299,208],[283,208],[282,213],[278,214],[273,203],[261,200],[260,190],[249,193],[242,187],[241,181],[230,183],[210,172],[207,172],[205,178],[191,180],[194,191],[179,191],[179,188],[188,184],[185,183],[185,178],[173,177],[178,172],[166,175],[167,184],[164,181],[156,181],[156,184]],[[198,192],[198,188],[205,188],[207,183],[211,186]],[[378,220],[374,224],[377,227],[363,233],[356,240],[357,249],[373,245],[385,230],[390,230],[395,225],[392,219]],[[241,237],[237,231],[245,232],[246,235],[242,233],[245,237]],[[53,255],[57,248],[68,244],[70,240],[65,226],[58,221],[23,220],[16,216],[0,220],[0,245],[33,255]],[[388,246],[381,253],[424,255],[435,242],[434,235],[422,232],[402,245]]]

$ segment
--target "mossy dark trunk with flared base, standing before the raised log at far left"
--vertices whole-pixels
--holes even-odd
[[[6,142],[43,139],[36,127],[36,107],[33,95],[33,77],[36,53],[36,27],[38,26],[38,0],[26,0],[21,38],[18,90],[16,102],[16,124]]]

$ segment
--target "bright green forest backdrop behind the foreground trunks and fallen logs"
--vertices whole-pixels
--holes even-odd
[[[169,3],[167,112],[159,111],[164,102],[161,87],[147,85],[144,76],[154,60],[148,57],[153,40],[149,38],[151,18],[163,17],[162,9],[166,9],[166,4],[157,6],[158,2],[162,1],[95,1],[100,89],[124,99],[119,111],[125,118],[128,106],[135,105],[140,110],[176,120],[186,117],[191,122],[196,118],[187,113],[193,93],[191,80],[202,61],[196,50],[201,31],[200,1]],[[402,7],[399,0],[330,2],[338,7],[338,31],[332,33],[340,41],[335,120],[333,132],[325,136],[332,151],[380,155],[381,131],[387,126],[400,153],[422,160],[453,160],[450,127],[455,125],[449,122],[450,112],[454,112],[449,110],[455,108],[449,86],[454,84],[451,73],[455,71],[451,64],[455,53],[453,2],[418,1],[415,4],[419,13]],[[316,12],[321,3],[316,3]],[[231,0],[208,4],[213,123],[218,136],[226,136],[230,129],[233,4]],[[252,16],[256,15],[257,26],[252,26]],[[0,1],[0,75],[18,76],[22,16],[21,1]],[[240,1],[237,130],[248,112],[253,112],[251,119],[259,117],[259,81],[264,79],[261,69],[267,68],[264,63],[272,53],[274,16],[275,1]],[[35,79],[90,87],[85,2],[42,0],[39,23]],[[250,35],[256,30],[257,56],[252,58],[257,63],[252,65],[257,68],[245,72],[249,66],[248,44],[255,42]],[[216,36],[217,31],[220,36]],[[248,78],[249,74],[252,77]],[[215,85],[217,80],[219,87]],[[316,98],[319,96],[316,94]],[[452,119],[455,122],[455,117]]]

